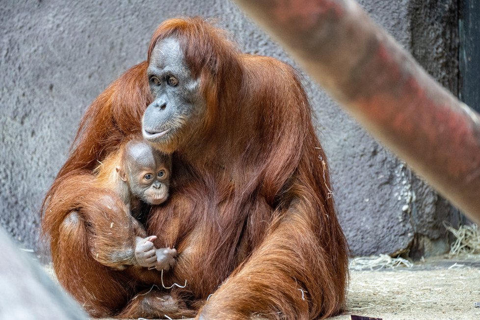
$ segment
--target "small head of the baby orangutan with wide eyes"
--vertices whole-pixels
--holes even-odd
[[[131,141],[127,145],[125,161],[126,172],[122,179],[134,197],[152,205],[167,199],[170,157],[162,156],[145,143]]]

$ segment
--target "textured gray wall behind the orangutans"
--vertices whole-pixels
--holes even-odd
[[[226,0],[76,2],[2,0],[0,224],[26,247],[37,246],[42,197],[66,159],[84,109],[109,82],[146,58],[150,36],[163,20],[177,15],[217,18],[242,51],[293,64]],[[418,47],[412,41],[418,29],[412,21],[415,12],[425,8],[423,2],[362,0],[360,4],[412,50]],[[431,32],[426,38],[438,33]],[[435,43],[426,46],[427,51],[438,47]],[[430,58],[425,61],[432,70],[446,70],[442,77],[456,79],[440,59]],[[402,252],[412,243],[421,254],[425,246],[426,254],[444,250],[446,234],[437,217],[452,220],[448,204],[373,141],[308,77],[304,84],[318,119],[340,219],[353,253]]]

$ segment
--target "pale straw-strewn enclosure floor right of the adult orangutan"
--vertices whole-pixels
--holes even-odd
[[[358,315],[383,320],[475,320],[480,319],[476,302],[480,302],[480,255],[444,256],[413,267],[352,270],[347,310],[330,319]]]

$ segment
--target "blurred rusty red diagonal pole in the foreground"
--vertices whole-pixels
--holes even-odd
[[[480,222],[480,117],[353,0],[236,0],[374,137]]]

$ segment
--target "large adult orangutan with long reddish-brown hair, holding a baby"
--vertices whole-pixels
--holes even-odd
[[[93,316],[316,319],[338,313],[347,244],[311,112],[291,66],[240,53],[203,19],[164,22],[148,61],[88,108],[45,199],[43,228],[60,283]],[[152,208],[145,225],[157,236],[156,247],[177,249],[168,272],[117,270],[96,259],[96,252],[111,250],[98,240],[116,210],[114,201],[102,202],[105,191],[85,196],[76,219],[62,205],[97,161],[140,131],[172,155],[171,197]],[[65,179],[78,184],[60,187]],[[109,245],[122,247],[120,238]],[[165,289],[185,281],[185,288]]]

